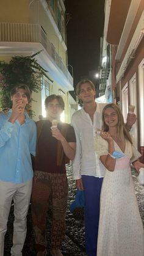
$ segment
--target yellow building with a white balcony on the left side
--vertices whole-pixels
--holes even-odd
[[[36,56],[41,67],[48,70],[50,82],[41,78],[41,91],[32,93],[35,120],[45,117],[45,98],[62,95],[65,112],[62,120],[70,123],[76,102],[71,99],[73,76],[67,65],[67,37],[63,0],[5,0],[0,2],[0,60],[9,62],[13,56]]]

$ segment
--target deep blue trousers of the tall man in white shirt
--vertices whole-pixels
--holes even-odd
[[[88,256],[96,256],[99,222],[99,201],[103,178],[82,175],[85,194],[85,248]]]

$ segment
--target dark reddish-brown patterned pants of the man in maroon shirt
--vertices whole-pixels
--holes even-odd
[[[51,247],[60,249],[65,236],[65,215],[68,200],[66,174],[51,174],[35,171],[32,188],[32,221],[37,251],[46,248],[46,211],[49,197],[52,199]]]

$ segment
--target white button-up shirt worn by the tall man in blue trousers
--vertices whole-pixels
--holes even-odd
[[[101,114],[106,103],[96,103],[96,111],[93,122],[84,108],[74,112],[71,123],[76,133],[76,156],[73,160],[73,179],[81,178],[81,175],[104,177],[106,168],[99,161],[95,153],[94,137],[96,130],[101,130]]]

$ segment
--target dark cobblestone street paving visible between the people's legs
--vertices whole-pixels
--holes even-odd
[[[73,213],[70,212],[69,206],[70,203],[74,200],[74,194],[76,191],[75,182],[71,178],[71,166],[70,164],[67,165],[67,174],[68,174],[68,181],[69,181],[69,199],[68,199],[68,210],[67,210],[67,218],[66,218],[66,225],[67,225],[67,232],[65,235],[65,240],[62,244],[62,253],[64,256],[86,256],[85,254],[85,247],[84,247],[84,211],[83,209],[75,210]],[[144,225],[144,192],[143,186],[139,185],[137,181],[137,173],[134,169],[132,169],[132,177],[134,180],[135,186],[135,194],[137,196],[137,201],[139,203],[140,214],[143,220]],[[49,228],[51,227],[51,210],[48,212],[48,230],[46,230],[46,236],[48,239],[48,254],[49,247],[50,247],[50,238],[49,238]],[[5,235],[5,251],[4,256],[10,256],[10,247],[12,246],[12,232],[13,232],[13,206],[10,210],[9,222],[8,222],[8,230],[7,234]],[[34,235],[32,233],[32,221],[31,221],[31,205],[30,210],[27,216],[27,236],[26,242],[23,248],[23,256],[35,256],[34,251]]]

